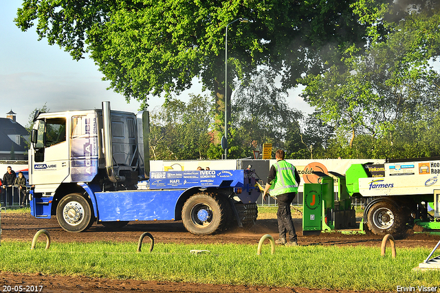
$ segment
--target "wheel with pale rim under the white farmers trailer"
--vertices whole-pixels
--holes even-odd
[[[367,225],[375,235],[396,234],[404,229],[404,219],[401,210],[391,202],[377,202],[369,209]]]

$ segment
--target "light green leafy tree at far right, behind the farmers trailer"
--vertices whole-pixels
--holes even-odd
[[[338,129],[339,142],[349,141],[349,158],[364,156],[354,148],[356,141],[375,142],[366,148],[372,155],[397,155],[393,153],[395,146],[386,153],[375,149],[380,145],[378,148],[385,151],[383,143],[395,142],[397,136],[405,138],[399,134],[403,129],[432,120],[439,109],[439,73],[430,66],[439,54],[440,34],[435,26],[440,20],[439,5],[420,6],[423,9],[406,12],[393,22],[396,6],[373,9],[370,17],[374,15],[380,21],[371,23],[366,54],[358,54],[353,46],[347,50],[344,63],[334,63],[327,72],[309,74],[302,81],[307,85],[305,100],[320,110],[322,120]],[[386,36],[379,30],[386,31]]]

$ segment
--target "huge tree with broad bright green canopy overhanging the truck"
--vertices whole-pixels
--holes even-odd
[[[366,25],[354,0],[310,1],[72,1],[24,0],[14,21],[36,22],[39,40],[57,44],[75,60],[88,53],[126,100],[179,93],[201,78],[217,101],[221,129],[225,27],[231,25],[228,80],[250,78],[259,65],[280,72],[283,87],[307,72],[322,72],[347,45],[365,43]],[[230,100],[230,99],[228,99]]]

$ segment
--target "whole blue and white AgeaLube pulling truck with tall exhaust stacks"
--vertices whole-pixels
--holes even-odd
[[[252,170],[149,171],[148,112],[39,113],[29,151],[31,213],[69,232],[94,222],[182,220],[197,235],[253,224],[261,192]]]

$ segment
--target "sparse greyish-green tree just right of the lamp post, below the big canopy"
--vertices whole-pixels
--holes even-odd
[[[298,120],[303,114],[291,109],[286,101],[286,93],[276,86],[277,74],[267,67],[259,70],[249,83],[236,87],[232,105],[232,129],[236,144],[245,150],[232,158],[252,155],[256,145],[272,143],[274,148],[281,148],[290,131],[299,128]],[[238,156],[237,156],[238,155]]]

